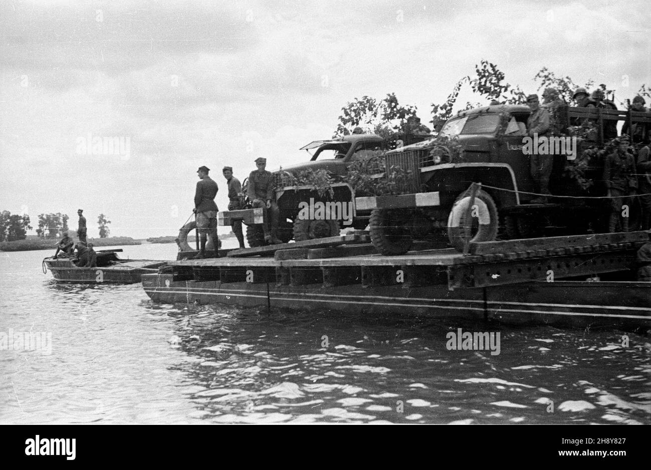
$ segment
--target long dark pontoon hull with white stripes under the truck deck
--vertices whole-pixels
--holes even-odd
[[[142,283],[146,294],[158,303],[316,308],[517,324],[651,326],[651,283],[556,281],[450,291],[445,284],[323,288],[322,284],[174,281],[171,273],[143,275]]]

